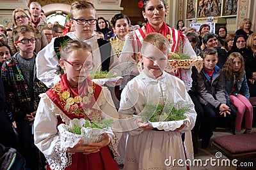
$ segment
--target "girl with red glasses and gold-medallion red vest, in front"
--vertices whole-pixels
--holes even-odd
[[[89,77],[94,67],[91,46],[84,41],[70,40],[62,46],[60,55],[60,66],[65,74],[40,96],[35,145],[45,154],[51,169],[118,170],[109,150],[109,146],[115,146],[114,136],[104,134],[99,143],[83,145],[83,140],[77,140],[76,145],[69,143],[70,147],[63,147],[57,129],[59,124],[69,124],[74,118],[117,119],[118,113],[109,90],[93,83]],[[70,99],[74,102],[70,103]]]

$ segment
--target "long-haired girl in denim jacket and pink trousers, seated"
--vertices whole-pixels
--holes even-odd
[[[252,132],[253,108],[244,71],[244,60],[240,53],[231,53],[223,67],[226,98],[237,111],[236,134],[241,134],[241,124],[245,115],[244,133]]]

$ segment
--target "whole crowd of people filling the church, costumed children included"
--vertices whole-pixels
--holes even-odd
[[[93,3],[76,0],[63,26],[47,24],[32,2],[29,11],[13,11],[10,32],[0,25],[0,144],[20,153],[25,169],[188,169],[164,160],[192,160],[198,139],[207,149],[216,127],[252,132],[256,34],[250,18],[236,33],[221,26],[213,34],[207,24],[198,32],[182,20],[170,27],[164,0],[143,0],[139,8],[141,26],[122,13],[110,22],[97,18]],[[166,72],[170,53],[200,56],[203,67]],[[100,72],[119,79],[97,84],[89,74]],[[173,103],[188,108],[186,118],[142,119],[148,105]],[[111,118],[114,135],[63,147],[58,125],[74,118]]]

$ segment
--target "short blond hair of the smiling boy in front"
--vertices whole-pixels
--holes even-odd
[[[169,50],[170,47],[168,39],[162,34],[156,32],[147,34],[147,36],[143,39],[141,53],[145,53],[145,50],[147,50],[147,47],[150,45],[155,46],[159,50]]]

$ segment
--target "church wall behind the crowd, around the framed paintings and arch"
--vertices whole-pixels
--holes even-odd
[[[36,1],[36,0],[34,0]],[[198,13],[199,0],[172,0],[166,1],[168,5],[168,15],[166,16],[166,23],[175,27],[178,20],[184,20],[185,25],[188,27],[192,22],[193,18],[188,18],[188,4],[190,1],[196,3],[195,13]],[[206,1],[206,0],[205,0]],[[208,1],[208,0],[207,0]],[[225,4],[228,0],[217,0]],[[37,0],[38,3],[42,4],[42,9],[45,11],[45,15],[55,13],[55,11],[62,11],[67,14],[70,10],[70,4],[72,0]],[[58,2],[58,3],[56,3]],[[12,1],[1,1],[0,5],[0,22],[1,24],[12,27],[12,11],[16,8],[28,9],[30,0],[12,0]],[[143,20],[141,9],[138,8],[138,0],[94,0],[95,8],[97,10],[98,17],[104,17],[109,21],[116,13],[124,13],[131,19],[131,23],[142,24]],[[252,31],[256,31],[256,1],[252,0],[237,0],[237,14],[236,15],[223,15],[223,8],[221,8],[220,16],[216,18],[224,18],[228,32],[235,32],[241,20],[243,18],[250,18],[253,23]],[[197,16],[195,16],[197,17]],[[204,22],[207,17],[198,17],[199,22]],[[218,19],[217,19],[218,22]],[[223,20],[221,20],[223,22]],[[217,23],[218,24],[218,23]],[[223,23],[221,23],[223,24]]]

